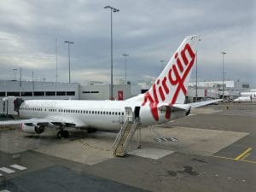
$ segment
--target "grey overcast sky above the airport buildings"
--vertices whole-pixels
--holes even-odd
[[[256,88],[256,1],[254,0],[8,0],[0,2],[0,79],[55,81],[57,38],[58,81],[110,82],[110,10],[113,13],[113,79],[131,82],[157,78],[160,60],[168,61],[183,38],[201,34],[200,80],[240,79]],[[20,74],[17,72],[16,76]],[[192,80],[195,79],[195,70]]]

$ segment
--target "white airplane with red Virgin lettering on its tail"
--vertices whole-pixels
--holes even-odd
[[[191,108],[213,102],[184,104],[192,67],[195,63],[199,36],[184,38],[171,60],[144,94],[125,101],[26,100],[18,109],[15,120],[0,125],[20,124],[26,133],[41,134],[46,128],[57,128],[57,138],[68,137],[68,128],[119,131],[125,118],[140,119],[140,126],[156,125],[189,115]]]

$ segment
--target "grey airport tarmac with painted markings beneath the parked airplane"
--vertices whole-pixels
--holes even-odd
[[[0,130],[0,192],[256,191],[256,105],[225,103],[141,129],[114,157],[116,133]],[[141,148],[137,148],[140,146]]]

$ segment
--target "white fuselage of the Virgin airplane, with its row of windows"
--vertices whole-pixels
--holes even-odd
[[[66,119],[74,122],[75,127],[96,128],[105,131],[118,131],[120,123],[125,120],[125,107],[140,108],[142,126],[160,124],[176,119],[175,113],[171,119],[166,119],[164,112],[159,112],[160,119],[152,117],[149,105],[142,102],[129,101],[74,101],[74,100],[29,100],[21,104],[20,119]]]

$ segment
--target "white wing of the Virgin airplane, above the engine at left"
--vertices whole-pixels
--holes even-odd
[[[25,125],[65,125],[65,126],[75,126],[81,127],[86,126],[79,119],[73,119],[63,116],[53,116],[44,119],[32,118],[32,119],[17,119],[17,120],[3,120],[0,121],[0,125],[15,125],[15,124],[25,124]]]

